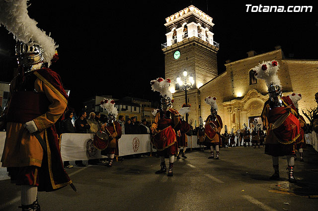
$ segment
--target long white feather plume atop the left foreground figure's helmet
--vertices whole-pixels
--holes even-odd
[[[39,29],[37,22],[31,19],[27,10],[28,0],[1,0],[0,24],[13,34],[16,41],[39,45],[44,50],[44,63],[51,65],[51,60],[58,47],[54,40]]]

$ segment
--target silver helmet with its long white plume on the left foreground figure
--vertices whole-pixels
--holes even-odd
[[[50,66],[58,46],[45,31],[37,27],[37,22],[29,17],[27,1],[0,1],[0,24],[3,24],[18,42],[16,54],[23,56],[18,60],[19,65],[27,66],[43,61]],[[31,52],[35,52],[35,56],[32,56]]]

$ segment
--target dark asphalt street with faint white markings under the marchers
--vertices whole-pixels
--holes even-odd
[[[209,153],[187,152],[187,159],[175,161],[173,177],[155,174],[160,160],[154,156],[126,158],[112,168],[67,169],[78,192],[70,186],[40,192],[41,211],[318,210],[318,155],[311,147],[304,150],[305,162],[295,161],[297,184],[288,182],[286,158],[279,161],[282,179],[268,179],[273,168],[263,147],[222,148],[220,160],[207,159]],[[0,170],[0,210],[16,211],[19,186],[10,184],[4,168]]]

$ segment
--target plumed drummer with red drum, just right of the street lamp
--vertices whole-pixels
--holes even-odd
[[[219,144],[222,145],[220,132],[223,128],[223,123],[221,117],[218,115],[218,106],[217,106],[217,98],[216,97],[206,97],[204,102],[211,106],[211,114],[205,121],[205,138],[204,145],[210,147],[211,155],[208,157],[209,159],[214,158],[214,147],[216,149],[216,157],[215,159],[219,159]]]

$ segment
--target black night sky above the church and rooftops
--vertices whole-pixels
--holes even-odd
[[[213,18],[214,40],[220,43],[219,73],[225,61],[273,51],[280,45],[286,57],[318,59],[318,4],[313,1],[213,0],[31,0],[28,8],[38,27],[51,32],[59,45],[59,61],[51,66],[71,90],[69,105],[77,110],[96,95],[159,99],[150,80],[164,76],[165,18],[193,4]],[[252,2],[252,3],[251,3]],[[278,3],[279,2],[279,3]],[[312,12],[246,12],[252,5],[312,5]],[[14,55],[12,34],[0,27],[0,71],[9,71],[3,57]],[[3,65],[6,64],[6,65]],[[15,64],[12,63],[12,64]],[[4,70],[5,69],[5,70]],[[0,78],[9,81],[10,74]]]

